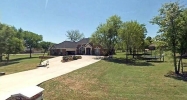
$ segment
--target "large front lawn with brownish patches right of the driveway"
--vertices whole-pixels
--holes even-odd
[[[187,100],[186,81],[165,77],[172,63],[126,64],[123,54],[42,83],[45,100]]]

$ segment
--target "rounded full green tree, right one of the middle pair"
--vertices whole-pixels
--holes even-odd
[[[126,49],[126,54],[128,51],[130,51],[130,54],[134,54],[133,51],[142,47],[146,32],[145,25],[140,24],[137,21],[127,21],[122,24],[122,27],[119,30],[119,37],[122,40],[122,46],[125,46],[123,48]]]

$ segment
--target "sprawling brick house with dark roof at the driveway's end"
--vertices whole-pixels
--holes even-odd
[[[64,41],[55,44],[50,50],[51,55],[104,55],[105,51],[100,45],[93,45],[89,38],[78,42]]]

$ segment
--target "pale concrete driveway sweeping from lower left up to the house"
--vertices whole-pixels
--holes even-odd
[[[46,80],[72,72],[99,60],[95,56],[82,56],[82,59],[62,63],[62,57],[49,59],[48,67],[0,76],[0,100],[4,100],[16,91],[38,85]]]

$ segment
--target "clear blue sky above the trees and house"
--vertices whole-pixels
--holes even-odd
[[[67,40],[68,30],[77,29],[90,37],[100,23],[116,14],[122,21],[145,24],[147,36],[154,37],[159,27],[149,21],[170,1],[176,0],[1,0],[0,22],[59,43]],[[187,0],[180,3],[186,5]]]

